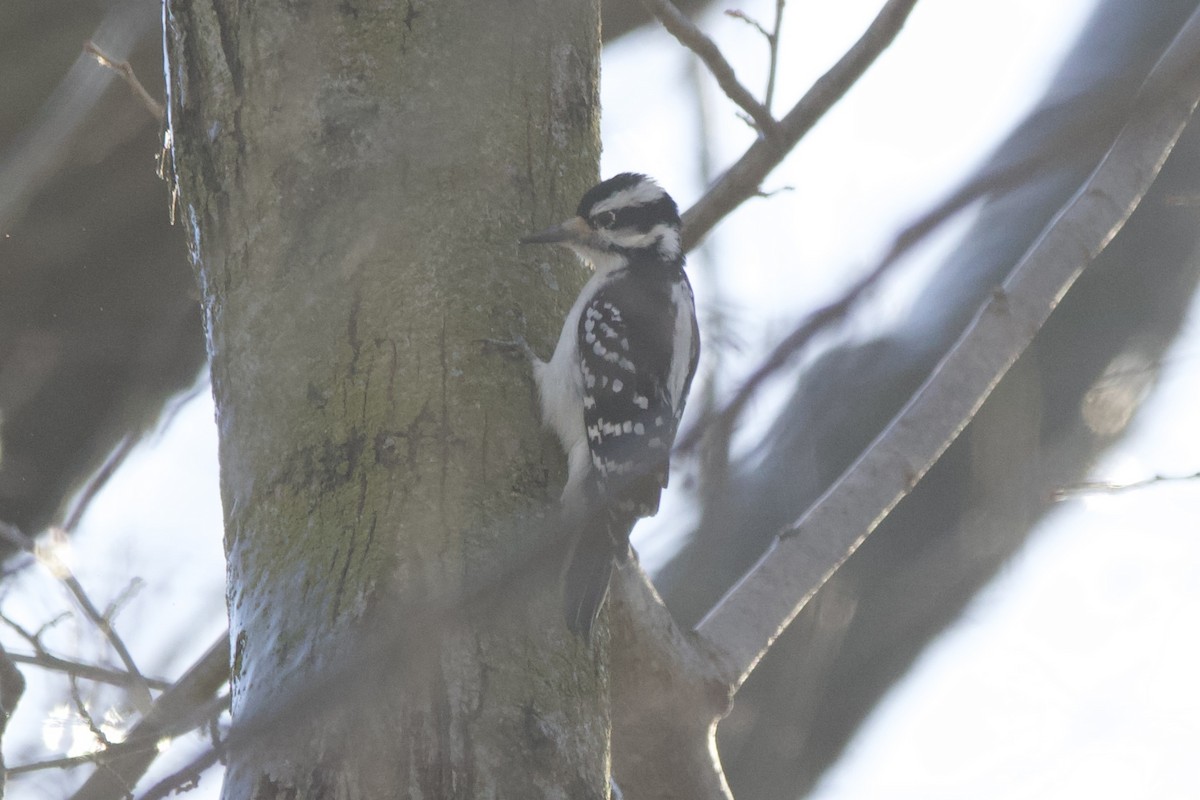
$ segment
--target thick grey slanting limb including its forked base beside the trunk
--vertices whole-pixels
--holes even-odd
[[[644,576],[632,569],[622,571],[614,583],[612,615],[618,780],[640,789],[671,780],[678,787],[683,781],[690,794],[680,796],[728,796],[712,735],[727,698],[808,600],[970,422],[1062,295],[1138,206],[1198,101],[1200,12],[1159,60],[1091,178],[997,287],[925,384],[692,634],[673,626]],[[649,670],[652,676],[664,669],[683,675],[685,688],[678,698],[650,702],[668,694],[670,687],[650,682],[647,696],[641,687],[647,663],[656,667]],[[707,775],[688,774],[706,758]],[[672,764],[688,766],[667,774],[662,765]]]

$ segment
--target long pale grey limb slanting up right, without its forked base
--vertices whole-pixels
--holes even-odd
[[[898,417],[697,626],[734,687],[949,446],[1086,265],[1138,206],[1200,98],[1200,12],[1144,85],[1075,198]]]

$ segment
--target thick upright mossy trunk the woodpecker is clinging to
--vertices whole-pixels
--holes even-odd
[[[224,796],[607,796],[528,368],[582,282],[517,234],[595,178],[598,4],[168,2],[221,437]],[[550,535],[553,535],[552,533]],[[538,557],[546,552],[556,558]]]

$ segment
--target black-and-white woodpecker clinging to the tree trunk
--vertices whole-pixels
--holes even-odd
[[[563,517],[578,531],[566,569],[566,624],[583,638],[629,533],[654,516],[700,356],[679,211],[646,175],[594,186],[576,216],[522,243],[564,245],[593,275],[550,361],[534,357],[542,421],[566,453]]]

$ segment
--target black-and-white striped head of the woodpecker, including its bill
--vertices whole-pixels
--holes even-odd
[[[679,264],[679,209],[654,179],[622,173],[588,190],[576,216],[524,236],[522,245],[570,247],[598,271],[636,260]]]

